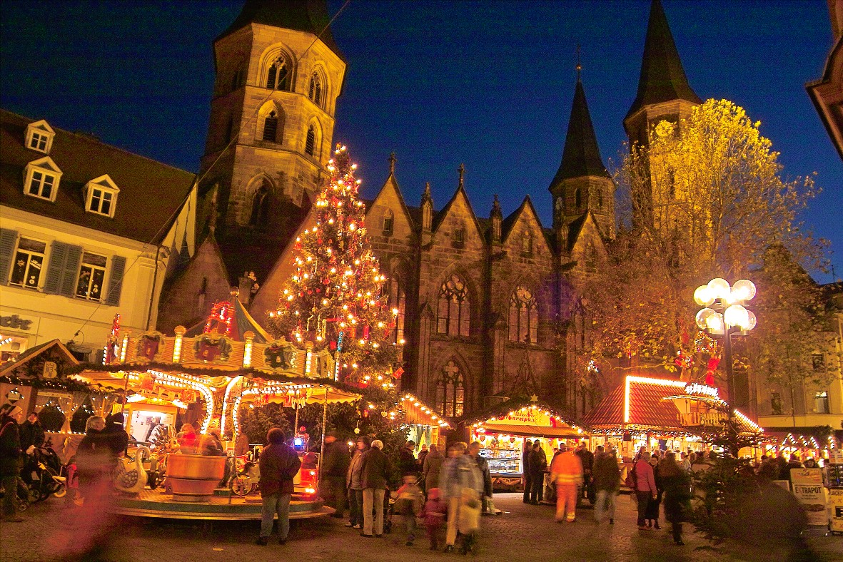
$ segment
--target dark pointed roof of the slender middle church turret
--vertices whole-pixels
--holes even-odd
[[[578,63],[577,67],[582,68]],[[563,179],[582,178],[584,176],[609,177],[609,172],[600,157],[597,137],[591,114],[588,112],[588,102],[585,99],[583,83],[578,78],[574,91],[574,101],[571,106],[571,117],[568,119],[568,131],[565,136],[565,148],[562,151],[562,161],[556,176],[550,182],[553,191]]]

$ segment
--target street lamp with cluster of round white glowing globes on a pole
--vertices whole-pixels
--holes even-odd
[[[706,308],[696,313],[696,325],[710,335],[723,336],[723,360],[726,361],[726,383],[729,401],[735,405],[734,377],[732,373],[732,335],[746,335],[756,324],[754,313],[744,307],[744,302],[755,296],[752,281],[741,279],[733,286],[716,277],[701,285],[694,292],[694,301]]]

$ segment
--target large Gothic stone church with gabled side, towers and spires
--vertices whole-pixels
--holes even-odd
[[[197,218],[202,242],[168,279],[158,329],[198,322],[213,302],[228,298],[231,285],[259,321],[276,307],[292,273],[292,240],[313,220],[309,205],[326,175],[346,72],[327,24],[324,2],[247,0],[215,40],[217,81]],[[636,139],[693,103],[699,99],[655,0],[625,126]],[[508,217],[497,197],[487,213],[475,212],[462,167],[443,206],[437,209],[429,188],[413,195],[417,206],[408,205],[396,169],[393,156],[379,194],[367,201],[366,223],[389,278],[386,291],[400,309],[401,388],[446,417],[533,394],[575,416],[596,404],[601,396],[583,393],[566,376],[569,351],[587,341],[577,284],[599,266],[615,235],[615,185],[583,83],[577,79],[561,163],[548,188],[550,227],[529,196]]]

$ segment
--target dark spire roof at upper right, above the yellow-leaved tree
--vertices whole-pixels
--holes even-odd
[[[674,36],[670,33],[662,2],[652,0],[650,20],[647,23],[647,39],[644,40],[641,77],[638,79],[638,94],[626,117],[645,105],[672,99],[685,99],[695,104],[702,103],[700,97],[690,88],[688,78],[685,77],[685,69],[679,59]]]

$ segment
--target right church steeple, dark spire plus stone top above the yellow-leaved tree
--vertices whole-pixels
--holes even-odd
[[[661,0],[652,0],[638,93],[624,118],[626,135],[631,142],[647,142],[647,126],[660,120],[678,122],[690,114],[690,108],[702,100],[685,77],[685,68],[670,33]]]

